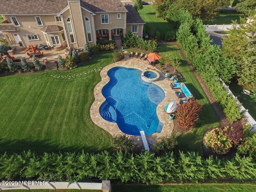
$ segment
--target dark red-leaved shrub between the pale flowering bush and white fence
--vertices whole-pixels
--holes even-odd
[[[238,120],[230,128],[227,127],[225,134],[228,136],[228,140],[234,144],[234,147],[238,146],[244,137],[242,121]]]

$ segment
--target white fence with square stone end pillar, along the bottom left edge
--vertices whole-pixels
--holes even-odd
[[[74,182],[49,182],[49,181],[2,181],[0,190],[20,189],[90,189],[111,192],[110,181],[103,180],[101,183]]]

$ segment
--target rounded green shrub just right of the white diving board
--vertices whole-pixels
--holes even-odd
[[[154,152],[156,155],[161,156],[166,152],[172,152],[176,145],[177,141],[175,138],[165,136],[154,144]]]

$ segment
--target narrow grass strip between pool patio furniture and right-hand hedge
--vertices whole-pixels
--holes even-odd
[[[165,56],[166,54],[171,53],[173,59],[175,59],[176,56],[180,59],[180,62],[182,62],[182,64],[179,66],[178,71],[184,76],[184,80],[182,80],[182,82],[186,83],[188,89],[203,106],[203,111],[200,113],[199,120],[196,123],[196,126],[192,130],[192,132],[189,131],[185,134],[180,134],[178,132],[173,133],[173,136],[177,136],[178,141],[178,146],[176,147],[176,150],[174,152],[177,155],[178,150],[183,150],[184,152],[195,151],[199,152],[200,155],[203,155],[203,134],[209,128],[218,127],[218,119],[214,113],[214,110],[212,109],[208,98],[206,97],[206,94],[202,90],[202,87],[200,86],[198,80],[194,76],[187,62],[184,60],[178,46],[161,44],[160,46],[158,46],[157,51],[161,56]],[[160,62],[162,62],[162,58],[160,59]]]

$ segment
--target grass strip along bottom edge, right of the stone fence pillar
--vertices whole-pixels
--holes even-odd
[[[112,185],[113,192],[253,192],[254,184]]]

